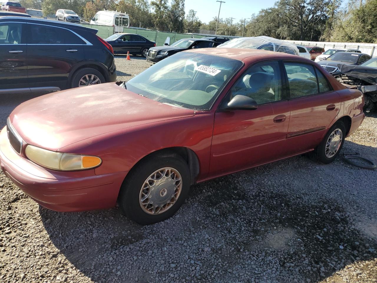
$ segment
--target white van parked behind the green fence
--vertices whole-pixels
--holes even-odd
[[[130,17],[127,14],[116,11],[98,11],[90,20],[91,25],[113,26],[114,32],[123,32],[123,28],[129,28]]]

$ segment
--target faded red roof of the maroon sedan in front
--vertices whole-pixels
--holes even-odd
[[[199,48],[199,49],[189,49],[183,52],[194,52],[200,54],[215,55],[219,57],[247,61],[248,58],[255,60],[261,59],[294,59],[299,61],[305,61],[301,56],[291,55],[284,52],[274,52],[260,49],[249,49],[249,48]]]

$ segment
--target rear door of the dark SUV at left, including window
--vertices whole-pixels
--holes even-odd
[[[86,42],[74,32],[56,26],[28,24],[30,87],[67,88],[73,65],[84,60]]]

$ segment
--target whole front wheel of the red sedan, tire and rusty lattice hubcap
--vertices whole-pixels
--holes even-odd
[[[190,190],[190,170],[179,156],[154,156],[127,175],[118,202],[131,220],[149,225],[172,217]]]

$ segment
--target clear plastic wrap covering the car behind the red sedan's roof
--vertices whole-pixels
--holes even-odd
[[[299,49],[297,49],[296,45],[294,45],[293,43],[268,36],[234,38],[230,41],[222,43],[217,48],[225,47],[258,49],[263,45],[271,46],[273,48],[273,51],[299,55]]]

